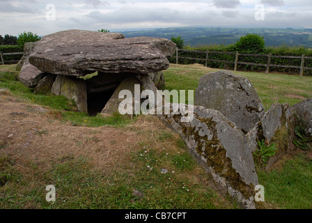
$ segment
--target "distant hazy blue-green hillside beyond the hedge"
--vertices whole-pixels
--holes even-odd
[[[127,38],[150,36],[168,38],[181,36],[185,45],[228,45],[235,43],[247,33],[264,36],[266,46],[304,46],[312,48],[312,29],[268,29],[268,28],[222,28],[222,27],[173,27],[139,31],[120,31]]]

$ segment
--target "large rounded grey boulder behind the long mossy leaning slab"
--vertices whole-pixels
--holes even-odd
[[[201,77],[194,105],[218,110],[244,133],[249,132],[264,114],[263,104],[251,82],[226,70]]]

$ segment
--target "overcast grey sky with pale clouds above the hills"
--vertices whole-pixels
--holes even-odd
[[[6,33],[17,36],[23,31],[43,36],[67,29],[95,31],[171,26],[303,26],[312,29],[312,1],[0,0],[2,36]]]

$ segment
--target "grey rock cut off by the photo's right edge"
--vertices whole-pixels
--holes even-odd
[[[297,114],[299,121],[304,125],[306,134],[312,137],[312,98],[293,105],[292,111]]]

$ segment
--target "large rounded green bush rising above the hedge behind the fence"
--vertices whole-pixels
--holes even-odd
[[[265,51],[265,40],[263,36],[249,33],[242,36],[239,41],[235,43],[235,50],[244,53],[261,53]]]

